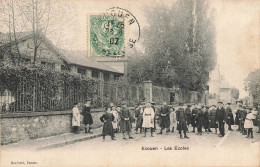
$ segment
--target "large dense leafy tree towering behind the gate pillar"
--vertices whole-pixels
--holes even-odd
[[[215,29],[208,13],[202,0],[179,0],[170,8],[148,10],[149,26],[142,31],[144,56],[129,62],[130,80],[150,79],[160,86],[202,92],[215,66]]]

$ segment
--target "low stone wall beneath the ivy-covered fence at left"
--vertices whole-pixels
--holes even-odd
[[[133,114],[133,110],[131,111]],[[102,109],[91,111],[94,122],[92,128],[102,127],[103,123],[99,118],[103,113]],[[15,143],[20,140],[70,133],[72,130],[71,119],[72,111],[1,114],[1,145]],[[81,115],[81,122],[82,119],[83,116]],[[83,126],[80,129],[83,130]]]

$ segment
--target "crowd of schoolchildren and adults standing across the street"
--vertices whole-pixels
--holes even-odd
[[[146,132],[148,129],[150,130],[151,136],[153,137],[153,132],[155,132],[156,126],[161,128],[159,134],[162,134],[162,130],[165,128],[166,132],[168,133],[170,132],[170,114],[172,112],[173,122],[179,122],[176,121],[176,112],[174,112],[176,107],[173,105],[166,105],[165,103],[159,107],[155,107],[153,103],[143,102],[135,107],[134,118],[126,104],[127,103],[125,101],[122,102],[121,105],[117,106],[115,106],[113,103],[110,103],[110,105],[105,108],[105,113],[100,117],[100,121],[103,122],[103,141],[107,135],[111,136],[112,140],[116,140],[115,133],[119,132],[122,132],[123,139],[126,139],[126,134],[128,135],[129,139],[133,139],[133,122],[136,122],[136,133],[140,128],[140,132],[144,132],[144,137],[146,137]],[[220,102],[219,104],[220,105],[218,107],[216,105],[209,107],[198,104],[187,104],[185,107],[182,105],[179,106],[177,111],[180,108],[184,109],[184,122],[186,123],[185,126],[187,126],[185,133],[186,131],[189,132],[189,126],[191,125],[193,127],[192,132],[195,133],[195,129],[197,129],[198,135],[202,135],[202,128],[204,128],[205,132],[207,133],[212,132],[211,128],[214,128],[215,133],[217,134],[217,129],[219,129],[219,136],[223,137],[225,135],[224,125],[227,123],[230,131],[233,130],[231,125],[236,124],[239,126],[238,130],[241,131],[241,133],[244,135],[247,135],[247,138],[253,138],[253,126],[260,126],[260,116],[259,112],[257,111],[260,109],[260,105],[258,108],[252,109],[251,107],[242,106],[242,104],[240,104],[237,111],[233,113],[230,107],[230,103],[228,103],[225,107],[223,106],[223,103]],[[75,133],[79,133],[80,112],[78,110],[77,103],[74,104],[72,111],[73,131]],[[235,119],[233,115],[235,115]],[[173,124],[172,132],[174,132],[174,126],[175,124]]]

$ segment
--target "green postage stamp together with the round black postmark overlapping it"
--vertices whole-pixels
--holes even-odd
[[[89,16],[89,51],[94,57],[124,57],[140,39],[140,25],[128,10],[112,7]]]

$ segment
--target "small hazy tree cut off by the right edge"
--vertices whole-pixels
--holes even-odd
[[[244,80],[244,90],[253,97],[254,104],[260,102],[260,69],[248,74]]]

